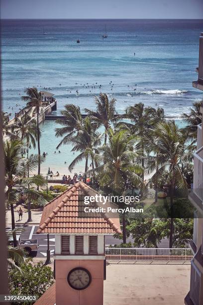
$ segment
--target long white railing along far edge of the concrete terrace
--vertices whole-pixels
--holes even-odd
[[[185,248],[105,248],[107,261],[191,261]]]

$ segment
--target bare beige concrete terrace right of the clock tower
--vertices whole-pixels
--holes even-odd
[[[109,265],[104,305],[183,305],[190,265]]]

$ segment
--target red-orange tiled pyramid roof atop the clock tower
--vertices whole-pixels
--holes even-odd
[[[83,196],[95,196],[94,189],[83,182],[78,182],[63,194],[44,206],[39,233],[89,233],[89,234],[122,234],[118,213],[87,213],[84,212]],[[90,205],[89,205],[90,206]],[[105,208],[114,203],[106,202]],[[91,207],[103,207],[102,203],[93,202]],[[112,215],[113,214],[113,215]]]

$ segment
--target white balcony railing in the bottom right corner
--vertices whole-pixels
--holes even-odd
[[[191,285],[190,298],[194,305],[200,305],[200,280],[201,272],[198,270],[194,262],[191,262]]]

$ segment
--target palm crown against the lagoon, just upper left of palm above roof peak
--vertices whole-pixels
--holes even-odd
[[[70,139],[77,135],[79,131],[83,129],[83,119],[80,111],[80,107],[73,104],[65,106],[65,110],[61,111],[61,115],[65,117],[65,120],[56,120],[57,124],[62,125],[62,128],[56,128],[56,137],[63,137],[63,140],[57,146],[57,149],[61,145],[69,143]]]

